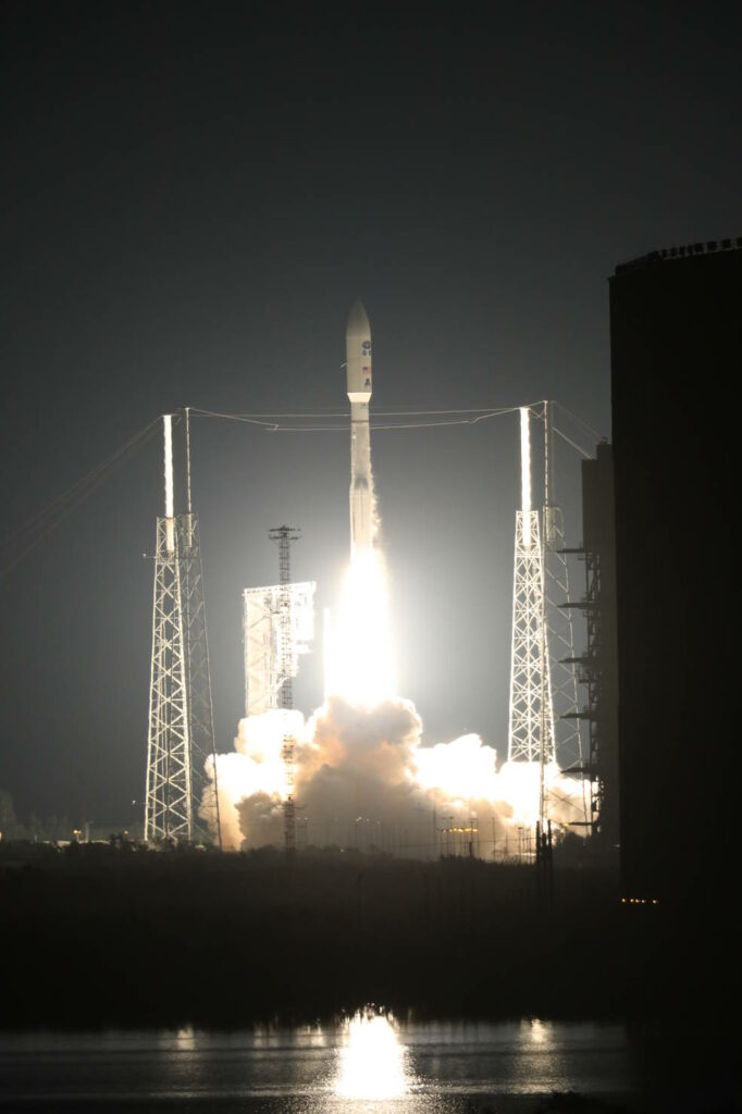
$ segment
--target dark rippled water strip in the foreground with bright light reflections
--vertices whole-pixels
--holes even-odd
[[[500,1114],[555,1091],[627,1107],[637,1088],[623,1029],[594,1024],[420,1024],[367,1010],[292,1030],[0,1036],[0,1110]]]

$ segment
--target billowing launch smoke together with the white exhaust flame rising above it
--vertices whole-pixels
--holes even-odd
[[[370,461],[367,461],[371,489]],[[374,534],[379,521],[373,502]],[[234,753],[216,756],[222,842],[250,849],[284,843],[284,739],[294,740],[299,842],[375,847],[432,858],[439,853],[507,854],[517,828],[539,814],[537,763],[505,763],[479,735],[426,746],[422,721],[396,692],[387,576],[377,548],[353,553],[335,635],[325,645],[329,696],[304,723],[273,710],[241,720]],[[202,817],[213,822],[215,779]],[[548,815],[583,814],[583,786],[558,766],[544,771]],[[476,836],[475,836],[476,832]]]

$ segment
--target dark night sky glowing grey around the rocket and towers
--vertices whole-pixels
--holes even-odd
[[[2,20],[3,537],[164,411],[342,410],[355,297],[377,410],[553,398],[608,434],[613,267],[740,233],[731,3],[4,3]],[[430,742],[506,745],[516,434],[499,418],[372,436],[401,691]],[[349,446],[206,419],[193,439],[227,750],[241,589],[276,579],[266,534],[289,521],[295,576],[333,602]],[[0,579],[0,788],[21,814],[129,822],[141,799],[159,452]],[[559,467],[574,506],[566,447]]]

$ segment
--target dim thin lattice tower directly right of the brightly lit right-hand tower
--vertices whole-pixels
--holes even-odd
[[[544,585],[546,646],[551,678],[556,759],[562,770],[585,773],[584,729],[579,710],[579,677],[575,658],[574,600],[569,592],[569,564],[564,514],[556,499],[554,420],[551,402],[544,403]],[[583,800],[588,817],[587,794]]]

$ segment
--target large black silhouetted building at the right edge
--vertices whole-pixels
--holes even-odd
[[[741,295],[742,237],[611,278],[624,886],[707,916],[736,872]]]

